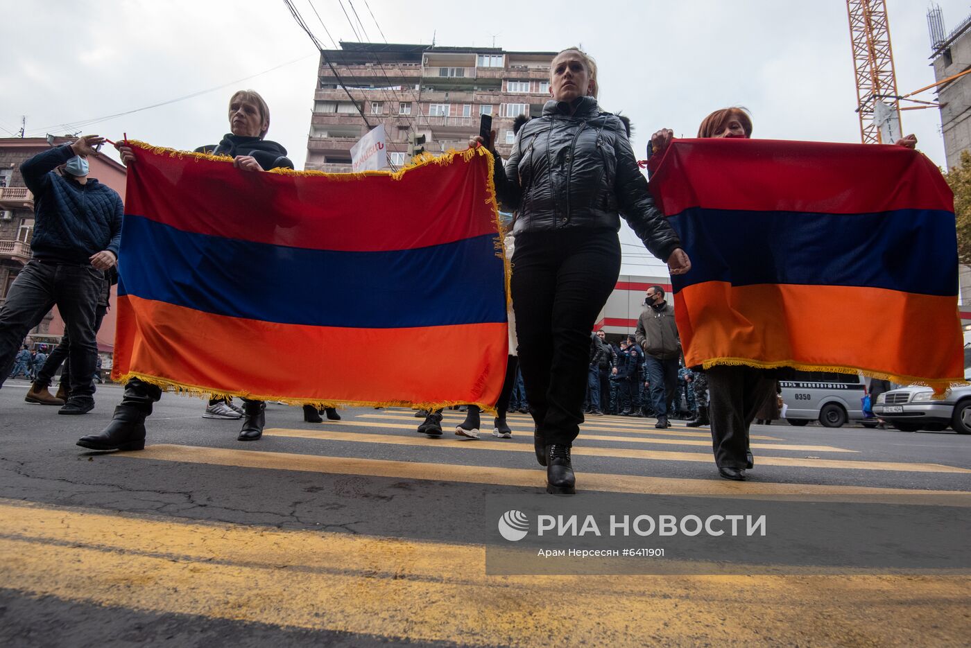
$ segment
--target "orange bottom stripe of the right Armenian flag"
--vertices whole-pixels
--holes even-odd
[[[678,296],[688,366],[722,359],[832,367],[944,386],[963,378],[953,296],[854,286],[733,287],[721,281],[686,286]]]

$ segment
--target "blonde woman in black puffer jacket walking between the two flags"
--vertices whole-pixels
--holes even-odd
[[[550,81],[552,101],[519,129],[494,179],[504,209],[519,211],[513,308],[536,459],[548,492],[573,493],[570,447],[584,422],[590,331],[619,275],[619,214],[672,274],[690,262],[654,207],[623,123],[597,106],[593,60],[564,49]]]

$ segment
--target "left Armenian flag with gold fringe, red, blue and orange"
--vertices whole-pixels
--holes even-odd
[[[495,404],[509,268],[484,148],[324,174],[129,144],[113,378],[293,404]]]

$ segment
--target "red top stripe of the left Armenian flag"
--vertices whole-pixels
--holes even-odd
[[[246,172],[225,161],[186,161],[141,147],[135,154],[146,163],[128,168],[125,213],[184,232],[346,251],[498,236],[485,154],[469,161],[455,155],[449,164],[426,164],[399,179],[352,180]]]

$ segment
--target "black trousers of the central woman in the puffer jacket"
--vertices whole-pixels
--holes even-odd
[[[524,232],[513,254],[519,367],[547,443],[571,445],[584,422],[590,331],[620,272],[617,232]]]

